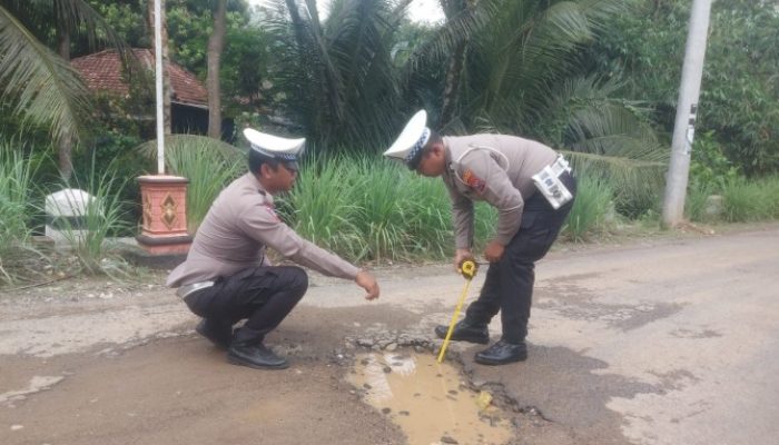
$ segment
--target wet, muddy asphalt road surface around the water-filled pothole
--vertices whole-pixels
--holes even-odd
[[[351,283],[314,276],[269,338],[293,363],[273,373],[225,364],[160,276],[4,293],[0,443],[402,444],[344,382],[339,358],[359,342],[431,340],[463,281],[447,265],[377,275],[375,303]],[[475,365],[479,347],[463,344],[451,354],[475,386],[520,412],[512,443],[772,444],[777,277],[777,225],[563,246],[536,268],[527,362]]]

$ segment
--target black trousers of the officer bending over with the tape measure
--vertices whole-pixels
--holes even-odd
[[[563,174],[560,180],[575,198],[575,178]],[[525,339],[533,300],[535,261],[552,247],[573,201],[556,210],[541,192],[525,201],[520,230],[505,247],[501,260],[490,265],[479,298],[465,313],[470,322],[486,325],[500,312],[503,339],[510,343]]]

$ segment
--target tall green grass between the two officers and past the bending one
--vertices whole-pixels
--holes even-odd
[[[605,180],[580,180],[563,236],[586,240],[609,229],[613,190]],[[303,237],[353,260],[443,259],[454,250],[448,192],[387,160],[339,157],[303,166],[283,198],[285,219]],[[494,236],[497,211],[474,206],[474,244]]]

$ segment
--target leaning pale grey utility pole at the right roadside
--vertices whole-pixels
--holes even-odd
[[[709,31],[709,14],[712,0],[692,0],[690,30],[687,34],[681,86],[677,100],[677,119],[671,140],[671,161],[665,180],[662,219],[672,228],[684,217],[684,198],[690,174],[690,154],[696,132],[696,113],[703,77],[706,39]]]

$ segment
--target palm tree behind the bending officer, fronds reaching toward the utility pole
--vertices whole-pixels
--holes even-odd
[[[588,75],[579,60],[603,20],[623,12],[624,3],[442,0],[447,22],[410,59],[405,88],[413,92],[417,73],[431,66],[446,67],[434,110],[446,132],[542,140],[570,151],[592,175],[608,175],[619,189],[648,195],[660,188],[668,157],[647,123],[648,110],[620,99],[619,82]]]

